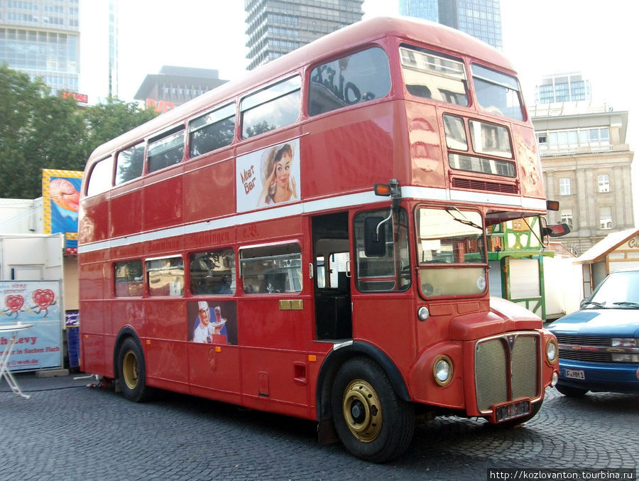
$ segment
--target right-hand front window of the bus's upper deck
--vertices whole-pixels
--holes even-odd
[[[523,120],[519,83],[515,77],[474,63],[473,82],[479,107],[489,114]]]

